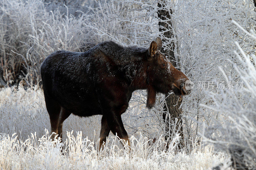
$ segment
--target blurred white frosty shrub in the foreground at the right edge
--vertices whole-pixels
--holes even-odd
[[[256,44],[256,35],[243,29],[251,44]],[[233,166],[236,168],[256,167],[256,56],[254,53],[244,51],[238,42],[235,42],[237,50],[234,51],[232,64],[235,76],[228,75],[220,67],[225,82],[243,82],[239,88],[220,89],[219,93],[209,92],[214,105],[204,106],[218,113],[214,124],[206,126],[206,140],[214,144],[216,149],[230,153]]]

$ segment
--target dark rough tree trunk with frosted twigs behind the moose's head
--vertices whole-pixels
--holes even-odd
[[[165,10],[165,3],[164,0],[162,0],[160,3],[157,4],[157,6],[161,9],[158,10],[157,15],[158,18],[160,20],[163,21],[159,21],[158,25],[159,25],[159,31],[163,32],[163,37],[166,37],[167,39],[172,38],[173,37],[173,33],[172,33],[172,22],[171,21],[166,21],[167,19],[171,19],[170,13],[169,11]],[[171,9],[170,9],[171,10]],[[172,10],[171,10],[171,14],[172,14]],[[164,41],[164,40],[163,40]],[[171,46],[171,50],[162,50],[162,52],[169,56],[171,63],[174,67],[176,67],[176,62],[175,62],[175,56],[174,56],[174,43],[170,44]],[[166,96],[167,97],[167,96]],[[184,137],[183,137],[183,129],[182,129],[182,115],[181,115],[181,109],[179,109],[180,105],[182,102],[182,98],[179,98],[177,96],[175,96],[174,94],[171,94],[169,97],[166,98],[166,105],[164,105],[164,113],[163,113],[163,119],[164,119],[164,123],[165,123],[165,130],[166,130],[166,135],[165,135],[165,139],[167,140],[168,137],[171,136],[171,134],[173,133],[172,131],[172,125],[170,124],[170,122],[175,122],[175,119],[178,119],[178,124],[181,125],[180,129],[178,127],[178,124],[176,125],[176,132],[180,133],[180,143],[179,143],[179,149],[184,147]],[[169,115],[170,113],[170,115]],[[175,132],[174,132],[175,133]],[[170,139],[169,139],[170,140]],[[169,143],[169,140],[167,141]]]

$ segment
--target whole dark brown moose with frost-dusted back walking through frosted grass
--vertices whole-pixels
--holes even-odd
[[[161,48],[162,40],[157,37],[149,48],[105,41],[86,52],[50,54],[40,71],[52,132],[62,138],[63,122],[71,113],[102,115],[99,146],[106,142],[110,130],[130,146],[121,115],[133,91],[147,89],[149,109],[156,93],[190,93],[185,88],[188,77],[170,63]]]

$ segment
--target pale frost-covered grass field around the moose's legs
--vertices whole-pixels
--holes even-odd
[[[189,151],[177,152],[176,136],[166,150],[161,136],[152,142],[140,132],[131,134],[129,128],[128,134],[134,135],[131,152],[113,134],[107,147],[98,152],[100,118],[71,115],[64,122],[62,154],[60,141],[49,141],[50,123],[42,90],[2,89],[0,169],[208,169],[220,163],[222,168],[229,164],[228,158],[213,152],[212,146],[195,143]],[[128,119],[124,121],[130,123]]]

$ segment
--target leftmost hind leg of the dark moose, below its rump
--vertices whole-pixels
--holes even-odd
[[[60,105],[44,94],[45,105],[50,117],[51,134],[54,132],[58,134],[58,124],[60,116]],[[55,135],[52,134],[51,139],[54,139]]]

